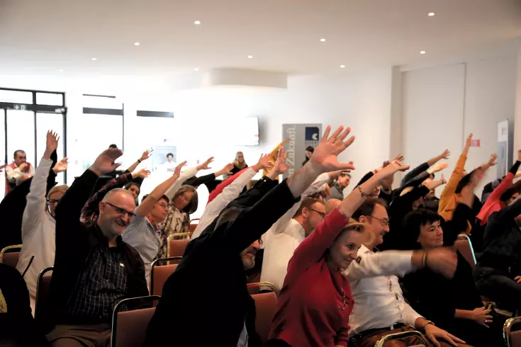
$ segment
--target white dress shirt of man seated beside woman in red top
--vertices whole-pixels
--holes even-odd
[[[412,255],[412,251],[374,253],[365,246],[359,249],[357,261],[344,271],[354,297],[349,336],[397,323],[415,326],[422,316],[405,302],[396,277],[413,271]]]

